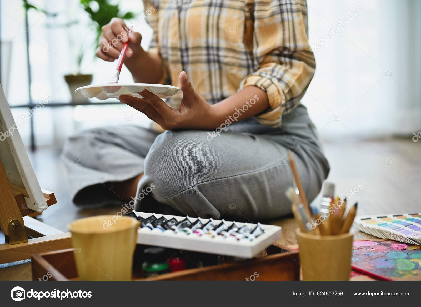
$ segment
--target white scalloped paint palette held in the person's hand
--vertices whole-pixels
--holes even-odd
[[[148,90],[159,98],[168,98],[181,91],[181,88],[171,85],[152,84],[152,83],[116,83],[102,85],[87,85],[76,89],[76,93],[88,98],[95,97],[99,100],[108,98],[117,98],[120,95],[130,95],[142,98],[138,93]]]

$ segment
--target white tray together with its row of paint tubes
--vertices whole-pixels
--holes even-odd
[[[281,236],[281,227],[132,211],[140,222],[136,243],[253,258]]]

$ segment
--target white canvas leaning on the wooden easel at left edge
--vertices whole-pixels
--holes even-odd
[[[3,133],[0,134],[0,160],[9,182],[27,191],[29,198],[25,197],[25,201],[28,208],[42,212],[47,208],[47,203],[18,128],[0,84],[0,132]]]

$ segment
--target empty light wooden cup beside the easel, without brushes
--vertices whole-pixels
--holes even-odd
[[[69,224],[80,280],[131,280],[139,221],[121,216],[114,223],[112,217],[92,216]]]

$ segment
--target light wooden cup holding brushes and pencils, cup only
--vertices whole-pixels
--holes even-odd
[[[349,280],[352,233],[311,235],[296,231],[303,280]]]

